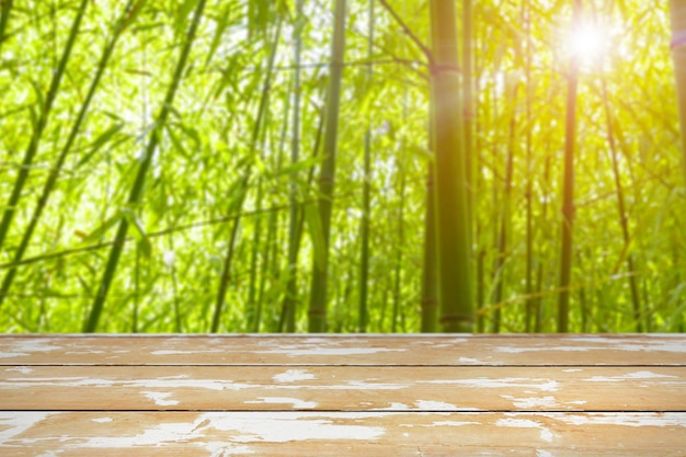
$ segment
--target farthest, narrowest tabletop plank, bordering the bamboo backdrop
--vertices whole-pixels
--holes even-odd
[[[686,366],[686,335],[0,335],[0,365]]]

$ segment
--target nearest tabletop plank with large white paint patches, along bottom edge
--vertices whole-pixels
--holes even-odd
[[[686,413],[0,412],[12,456],[686,456]]]

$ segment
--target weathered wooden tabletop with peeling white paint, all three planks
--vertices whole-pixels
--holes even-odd
[[[686,335],[0,335],[0,456],[686,456]]]

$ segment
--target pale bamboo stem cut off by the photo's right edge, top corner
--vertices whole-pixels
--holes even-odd
[[[676,102],[678,105],[682,167],[686,181],[686,0],[670,0],[672,12],[672,59],[676,77]]]

